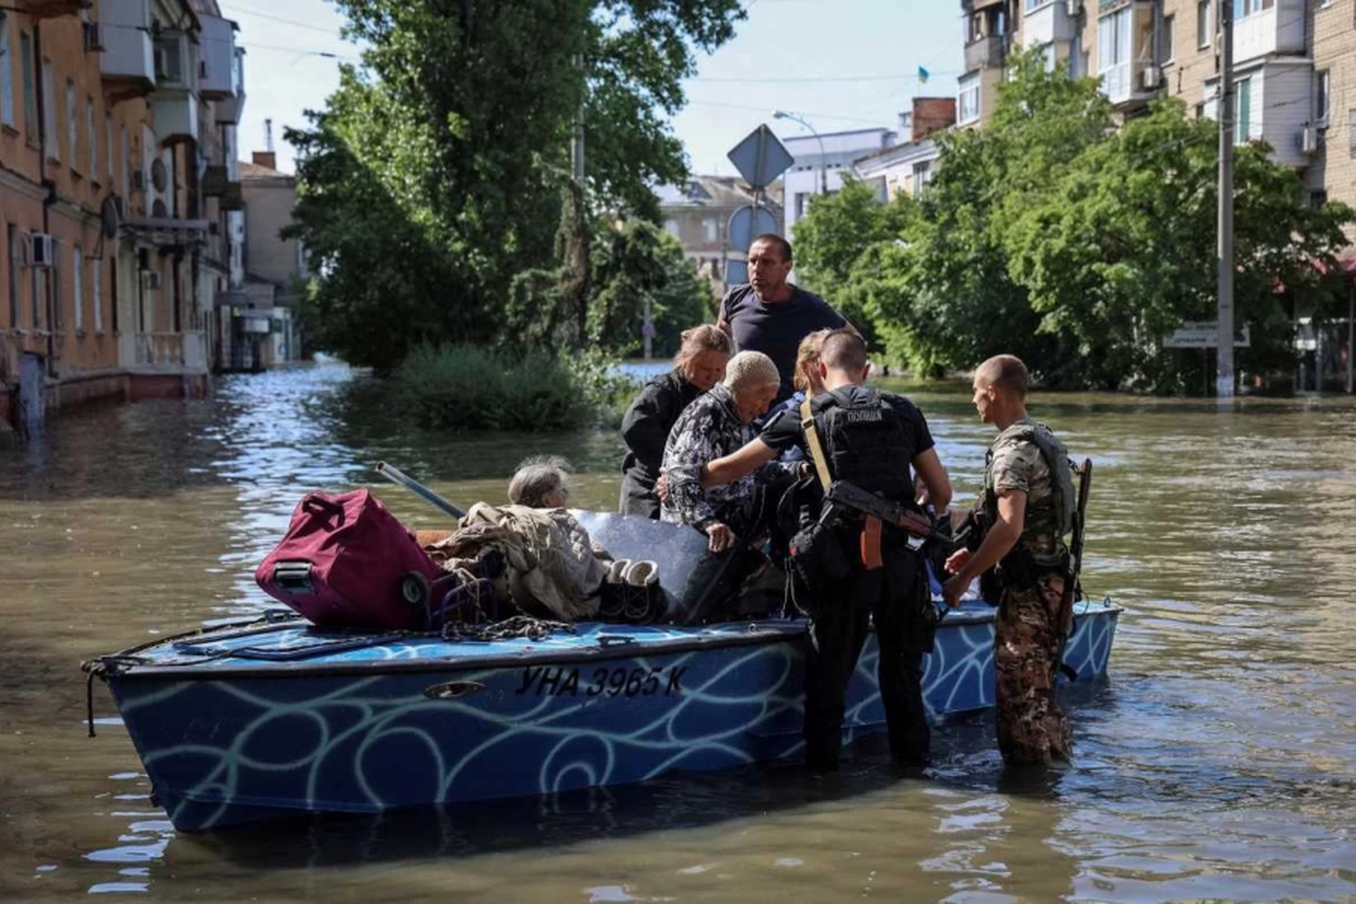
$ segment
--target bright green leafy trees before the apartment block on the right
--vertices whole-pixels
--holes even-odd
[[[1024,358],[1047,385],[1200,386],[1200,356],[1161,348],[1182,320],[1210,320],[1216,279],[1214,122],[1158,100],[1120,127],[1092,79],[1021,54],[983,130],[938,138],[942,165],[898,240],[862,243],[812,207],[833,236],[829,271],[890,350],[919,370]],[[1235,157],[1235,323],[1252,327],[1238,365],[1291,359],[1295,305],[1332,309],[1349,207],[1303,202],[1269,148]],[[869,218],[864,222],[871,222]],[[869,229],[868,229],[869,230]],[[797,236],[800,233],[797,232]]]

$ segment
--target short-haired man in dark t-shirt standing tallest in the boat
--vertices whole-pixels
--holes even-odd
[[[786,282],[791,243],[781,236],[758,236],[749,248],[749,282],[725,293],[716,325],[735,340],[736,351],[761,351],[781,375],[774,401],[795,392],[796,348],[816,329],[838,329],[848,321],[819,295]]]

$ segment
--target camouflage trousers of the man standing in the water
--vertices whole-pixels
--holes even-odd
[[[1069,721],[1055,703],[1059,604],[1064,576],[1041,575],[1036,587],[1003,591],[994,623],[998,749],[1009,763],[1069,759]]]

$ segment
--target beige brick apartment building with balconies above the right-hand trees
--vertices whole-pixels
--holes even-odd
[[[1356,0],[1226,0],[1238,141],[1265,141],[1314,203],[1356,206]],[[1159,95],[1216,115],[1220,0],[961,0],[957,125],[983,126],[1014,47],[1094,76],[1123,117]],[[1356,234],[1353,234],[1356,241]]]

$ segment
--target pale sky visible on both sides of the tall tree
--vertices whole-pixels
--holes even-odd
[[[273,119],[279,168],[293,171],[285,126],[324,107],[339,83],[339,60],[358,50],[339,37],[343,18],[327,0],[221,0],[245,47],[240,148],[264,149]],[[781,137],[810,134],[774,119],[795,112],[816,131],[898,125],[911,98],[955,96],[961,68],[956,0],[749,0],[747,19],[713,54],[700,54],[685,81],[687,107],[674,119],[693,172],[734,175],[725,153],[766,122]],[[919,84],[923,66],[930,77]]]

